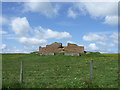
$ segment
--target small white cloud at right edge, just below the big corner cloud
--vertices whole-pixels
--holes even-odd
[[[118,25],[118,16],[106,16],[104,24]]]

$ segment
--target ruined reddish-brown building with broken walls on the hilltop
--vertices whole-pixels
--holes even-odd
[[[84,53],[84,46],[78,46],[76,44],[68,43],[67,46],[62,46],[62,43],[52,43],[46,45],[46,47],[39,47],[39,53],[51,53],[51,52],[77,52]]]

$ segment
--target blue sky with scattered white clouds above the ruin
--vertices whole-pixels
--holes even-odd
[[[118,52],[117,2],[2,2],[0,52],[29,53],[54,42]]]

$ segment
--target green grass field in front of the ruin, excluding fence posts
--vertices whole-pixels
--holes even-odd
[[[94,60],[92,82],[90,60]],[[19,84],[20,61],[24,62],[22,85]],[[3,88],[118,88],[117,54],[3,54],[2,65]]]

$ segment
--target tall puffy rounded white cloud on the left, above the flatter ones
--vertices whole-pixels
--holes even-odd
[[[14,18],[11,21],[10,26],[12,27],[12,30],[20,36],[27,36],[28,32],[30,31],[31,27],[29,25],[29,22],[26,17],[20,18]]]

